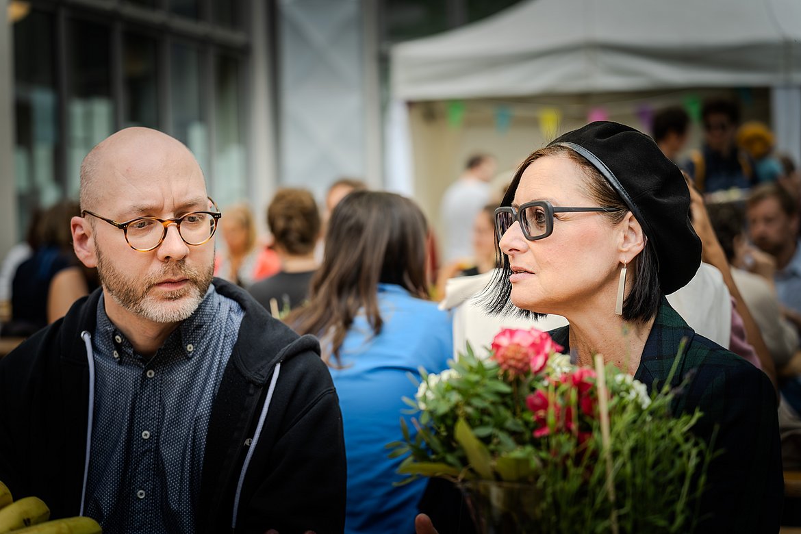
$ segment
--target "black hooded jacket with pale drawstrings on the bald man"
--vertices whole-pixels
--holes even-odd
[[[319,343],[273,319],[239,287],[220,279],[214,286],[245,315],[211,410],[199,532],[343,532],[342,416]],[[44,500],[53,519],[80,511],[89,405],[82,333],[95,331],[100,291],[0,359],[0,480],[15,500]]]

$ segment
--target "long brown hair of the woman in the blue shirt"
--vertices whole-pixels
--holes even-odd
[[[332,211],[323,264],[312,278],[308,303],[286,322],[299,334],[324,338],[324,359],[330,364],[333,355],[340,366],[340,347],[360,311],[373,334],[380,334],[379,283],[428,298],[426,232],[425,215],[412,200],[382,191],[352,191]]]

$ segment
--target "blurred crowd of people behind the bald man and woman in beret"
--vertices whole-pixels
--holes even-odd
[[[775,383],[785,468],[801,468],[801,175],[775,153],[765,124],[740,123],[735,102],[704,102],[701,122],[702,146],[690,151],[681,107],[659,110],[651,132],[686,173],[704,244],[702,268],[669,300],[695,331]],[[322,208],[311,191],[283,188],[261,213],[246,202],[222,209],[215,276],[323,342],[344,416],[348,532],[396,532],[425,491],[421,480],[393,486],[397,466],[384,451],[397,437],[400,399],[416,391],[407,374],[443,371],[454,351],[488,345],[501,325],[566,324],[497,317],[477,303],[501,267],[494,211],[509,179],[498,178],[493,155],[471,156],[441,199],[439,234],[413,200],[352,178],[332,183]],[[69,201],[43,210],[6,255],[0,335],[32,335],[101,285],[72,248],[71,221],[81,215]],[[257,231],[260,218],[268,236]]]

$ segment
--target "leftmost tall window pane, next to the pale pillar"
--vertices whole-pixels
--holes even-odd
[[[53,16],[31,10],[14,22],[14,112],[16,145],[14,175],[18,232],[23,235],[30,215],[63,196],[56,155],[58,91],[54,70]]]

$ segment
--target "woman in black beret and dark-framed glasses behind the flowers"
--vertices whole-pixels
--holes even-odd
[[[649,390],[676,363],[674,409],[700,408],[694,432],[710,440],[717,428],[714,448],[723,449],[707,473],[698,532],[778,532],[774,387],[666,300],[701,263],[689,213],[681,171],[650,137],[615,122],[562,135],[525,159],[496,211],[503,265],[489,306],[566,317],[551,335],[580,365],[602,354]],[[430,532],[425,517],[417,526]]]

